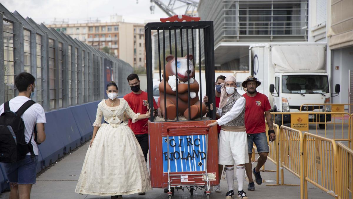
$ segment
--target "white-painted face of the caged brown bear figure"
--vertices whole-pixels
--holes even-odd
[[[172,72],[175,74],[175,59],[172,61]],[[177,58],[177,66],[178,66],[178,79],[180,81],[186,82],[188,80],[187,74],[189,73],[189,77],[194,77],[195,68],[192,64],[192,61],[189,60],[189,71],[187,70],[187,58],[178,57]]]

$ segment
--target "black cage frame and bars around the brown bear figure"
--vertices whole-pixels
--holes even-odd
[[[194,32],[195,31],[195,32]],[[191,32],[191,34],[190,34]],[[203,32],[203,41],[201,41],[201,33]],[[169,33],[168,36],[165,36],[165,33]],[[174,33],[174,38],[171,37],[171,33]],[[154,62],[152,62],[152,34],[157,34],[157,42],[158,43],[158,66],[154,65]],[[177,34],[179,35],[180,39],[180,44],[177,46]],[[184,34],[184,35],[183,35]],[[186,36],[185,36],[186,34]],[[190,35],[189,35],[190,34]],[[194,39],[194,35],[197,36],[198,38],[198,44],[196,43]],[[191,42],[189,41],[189,37],[191,36]],[[186,52],[183,51],[183,40],[185,41],[186,39]],[[174,41],[173,41],[174,40]],[[203,49],[201,49],[201,43],[203,42]],[[191,43],[191,44],[190,44]],[[169,49],[166,49],[166,45],[169,44]],[[172,48],[172,44],[174,44],[174,49]],[[162,47],[160,47],[162,45]],[[197,49],[195,49],[195,46],[197,46]],[[199,92],[198,92],[198,97],[200,100],[200,105],[201,105],[201,113],[200,113],[200,119],[203,119],[203,115],[206,113],[202,112],[202,101],[203,97],[206,94],[209,98],[209,102],[205,104],[206,106],[210,106],[211,103],[214,104],[214,110],[209,109],[209,113],[207,116],[210,119],[216,119],[216,111],[215,111],[215,68],[214,68],[214,38],[213,38],[213,21],[198,21],[198,22],[158,22],[158,23],[148,23],[145,25],[145,48],[146,48],[146,69],[147,69],[147,91],[148,91],[148,103],[149,107],[151,108],[151,113],[154,111],[153,107],[153,73],[154,69],[159,69],[159,77],[160,81],[164,81],[164,87],[167,84],[166,78],[163,78],[163,71],[165,70],[165,64],[166,64],[166,56],[167,55],[173,55],[175,59],[178,57],[184,57],[185,53],[186,55],[189,55],[190,52],[192,52],[193,55],[193,60],[192,63],[195,68],[195,74],[196,74],[196,66],[198,66],[199,69],[199,78],[195,80],[198,81],[199,83]],[[192,48],[192,51],[190,51]],[[184,46],[185,49],[185,46]],[[190,49],[190,50],[189,50]],[[195,55],[195,50],[198,53],[198,57]],[[167,51],[166,51],[167,50]],[[174,50],[174,52],[173,52]],[[178,52],[177,50],[180,50]],[[204,52],[204,71],[205,71],[205,79],[202,79],[202,73],[201,73],[201,50]],[[168,53],[169,51],[169,53]],[[161,55],[162,53],[162,55]],[[168,53],[168,54],[166,54]],[[161,58],[163,58],[163,62],[161,62]],[[198,58],[198,62],[196,63],[195,59]],[[187,56],[187,70],[189,71],[189,56]],[[164,64],[162,66],[161,64]],[[162,71],[163,70],[163,71]],[[177,61],[175,61],[175,73],[176,77],[178,77],[178,67],[177,67]],[[194,75],[195,75],[194,74]],[[189,73],[187,74],[188,79],[190,79]],[[162,78],[162,79],[161,79]],[[178,78],[176,78],[176,85],[178,85]],[[202,83],[205,82],[206,86],[206,93],[202,93]],[[188,96],[189,96],[189,118],[190,118],[190,81],[187,82],[187,87],[188,87]],[[166,92],[164,92],[165,95]],[[175,104],[177,106],[177,121],[179,120],[179,115],[178,115],[178,86],[176,86],[176,98],[177,98],[177,103]],[[164,101],[166,98],[164,97]],[[167,121],[167,109],[166,109],[166,103],[164,103],[164,110],[165,112],[162,113],[164,115],[164,121]],[[154,116],[151,114],[150,121],[154,122]],[[194,120],[193,120],[194,121]]]

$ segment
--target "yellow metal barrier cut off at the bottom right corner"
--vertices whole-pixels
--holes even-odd
[[[338,198],[353,199],[353,150],[342,143],[337,143],[337,181]]]

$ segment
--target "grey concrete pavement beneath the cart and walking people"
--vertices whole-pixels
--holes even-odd
[[[73,151],[70,155],[61,159],[59,162],[53,164],[48,170],[42,172],[37,177],[37,184],[32,188],[31,198],[34,199],[101,199],[110,197],[100,197],[95,195],[80,195],[74,192],[77,184],[80,171],[82,169],[83,160],[88,149],[89,142],[83,144],[80,148]],[[253,165],[255,166],[256,163]],[[267,170],[275,170],[275,165],[270,161],[265,165]],[[248,182],[244,182],[244,189],[249,199],[259,198],[276,198],[276,199],[297,199],[300,198],[300,188],[298,187],[266,187],[265,184],[274,184],[276,180],[275,172],[262,172],[261,176],[266,182],[262,185],[255,184],[256,191],[247,191]],[[236,188],[237,180],[234,179],[234,188]],[[285,170],[285,183],[287,184],[299,184],[299,178],[290,174]],[[224,199],[227,193],[227,181],[226,179],[221,180],[222,193],[211,193],[211,198]],[[332,198],[327,193],[321,191],[321,189],[312,186],[308,183],[309,198],[313,199],[324,199]],[[206,198],[203,193],[204,190],[194,191],[193,195],[185,190],[175,190],[173,198]],[[0,194],[0,198],[8,198],[9,192]],[[167,198],[167,194],[163,193],[163,189],[154,188],[152,191],[146,193],[146,195],[125,195],[123,198],[136,198],[136,199],[152,199],[152,198]]]

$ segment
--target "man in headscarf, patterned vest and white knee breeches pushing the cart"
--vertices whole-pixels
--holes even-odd
[[[249,163],[247,135],[245,132],[245,98],[237,90],[237,80],[228,76],[221,88],[221,99],[216,113],[220,119],[209,126],[220,125],[219,164],[226,165],[229,191],[226,199],[233,198],[234,165],[237,168],[238,198],[247,199],[243,191],[245,163]]]

